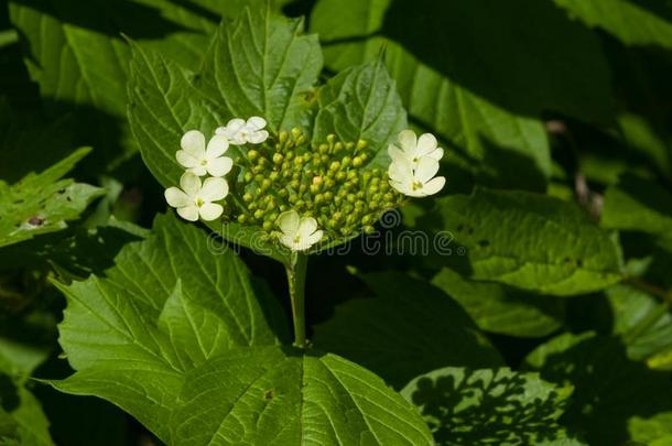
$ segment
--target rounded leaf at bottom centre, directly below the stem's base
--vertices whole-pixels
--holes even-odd
[[[334,355],[232,350],[186,376],[174,444],[430,445],[415,410]]]

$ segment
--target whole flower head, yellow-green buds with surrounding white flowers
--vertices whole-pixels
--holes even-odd
[[[259,117],[232,119],[207,145],[203,133],[187,131],[175,155],[185,172],[181,188],[165,191],[169,205],[186,220],[224,215],[227,221],[261,227],[292,251],[305,251],[321,241],[370,232],[404,195],[432,195],[445,184],[434,177],[443,149],[429,133],[418,139],[410,130],[401,132],[399,144],[388,148],[392,162],[386,172],[368,165],[375,152],[364,140],[344,142],[329,134],[324,142],[308,142],[300,129],[269,138],[265,124]],[[239,146],[235,160],[225,156],[229,145]],[[234,168],[229,185],[224,176]],[[229,195],[232,199],[218,203]]]

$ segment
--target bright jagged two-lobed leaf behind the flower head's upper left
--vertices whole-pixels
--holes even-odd
[[[229,118],[252,115],[265,117],[274,130],[308,124],[311,110],[303,95],[322,67],[319,46],[314,36],[302,34],[300,20],[268,8],[248,9],[223,25],[202,74],[134,46],[129,120],[144,163],[164,187],[176,185],[184,171],[175,152],[186,130],[212,134]],[[228,221],[209,226],[227,240],[288,262],[260,228]]]

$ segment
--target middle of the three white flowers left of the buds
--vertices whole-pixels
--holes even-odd
[[[205,137],[198,130],[189,130],[180,141],[182,150],[175,154],[177,162],[187,172],[203,176],[224,176],[231,171],[234,160],[221,156],[229,149],[229,141],[223,135],[214,135],[205,146]]]

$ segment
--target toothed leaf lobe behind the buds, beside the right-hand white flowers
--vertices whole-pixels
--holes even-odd
[[[388,144],[407,127],[407,117],[397,85],[381,61],[334,76],[319,89],[318,102],[313,141],[325,141],[329,133],[340,141],[366,140],[379,148],[373,164],[387,167]]]

